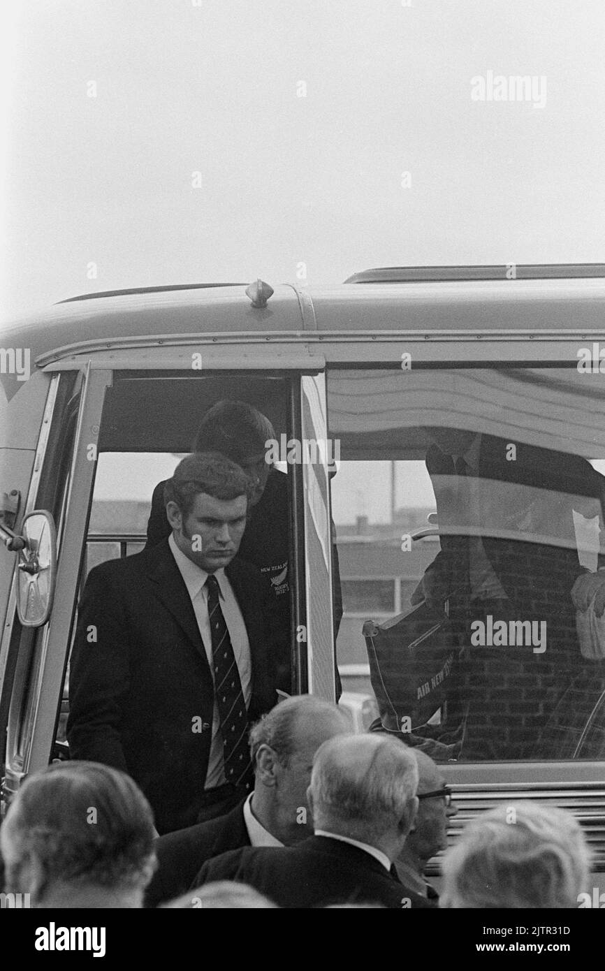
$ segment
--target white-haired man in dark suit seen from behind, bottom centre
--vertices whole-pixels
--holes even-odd
[[[190,887],[234,880],[280,907],[380,903],[434,908],[401,883],[393,861],[414,823],[418,767],[410,750],[386,735],[325,742],[313,764],[308,802],[315,835],[295,847],[245,848],[204,864]]]

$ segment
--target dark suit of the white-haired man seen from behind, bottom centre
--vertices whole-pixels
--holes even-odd
[[[217,856],[204,864],[190,889],[234,880],[255,887],[280,907],[373,902],[394,910],[410,905],[434,908],[434,903],[404,887],[395,873],[349,843],[312,836],[295,847],[249,847]]]

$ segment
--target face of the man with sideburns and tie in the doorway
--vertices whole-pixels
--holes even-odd
[[[185,518],[176,502],[169,502],[166,515],[181,552],[202,570],[214,573],[231,562],[240,548],[246,529],[248,500],[216,499],[199,492]]]

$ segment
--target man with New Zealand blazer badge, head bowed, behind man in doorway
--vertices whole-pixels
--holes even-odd
[[[265,460],[266,442],[275,441],[273,425],[261,412],[244,401],[218,401],[203,416],[193,452],[220,452],[237,462],[252,479],[248,523],[239,555],[253,563],[271,591],[271,619],[282,643],[290,643],[289,539],[287,475]],[[147,548],[170,535],[164,506],[164,485],[153,489],[147,527]],[[334,637],[343,616],[342,592],[336,543],[332,546]],[[336,671],[337,693],[340,679]],[[280,658],[280,686],[289,692],[290,655]]]

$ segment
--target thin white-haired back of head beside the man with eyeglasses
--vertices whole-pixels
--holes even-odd
[[[410,750],[387,735],[351,735],[316,754],[309,799],[316,830],[361,842],[405,838],[416,815],[419,770]]]

